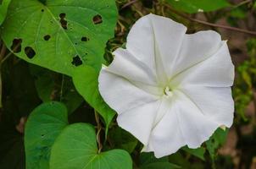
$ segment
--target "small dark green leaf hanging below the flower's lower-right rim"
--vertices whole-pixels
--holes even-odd
[[[215,158],[215,151],[225,143],[226,136],[228,134],[228,128],[218,128],[214,134],[206,141],[206,149],[209,151],[209,155],[212,160]]]

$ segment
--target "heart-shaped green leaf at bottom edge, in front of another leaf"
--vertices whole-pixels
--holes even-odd
[[[131,169],[131,156],[125,150],[97,152],[94,128],[75,123],[59,134],[51,153],[51,169]]]

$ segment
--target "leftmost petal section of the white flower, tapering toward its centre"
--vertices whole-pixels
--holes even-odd
[[[108,68],[102,68],[98,81],[104,101],[118,114],[159,99],[159,96],[147,93],[120,75],[112,74]]]

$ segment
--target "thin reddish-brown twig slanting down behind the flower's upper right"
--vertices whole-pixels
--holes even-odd
[[[233,31],[237,31],[237,32],[242,32],[242,33],[250,34],[250,35],[256,35],[256,31],[243,30],[243,29],[240,29],[240,28],[235,28],[235,27],[231,27],[231,26],[227,26],[227,25],[218,25],[218,24],[209,23],[209,22],[206,22],[206,21],[203,21],[203,20],[199,20],[199,19],[192,19],[192,18],[186,16],[186,14],[179,13],[175,9],[171,8],[169,5],[167,5],[167,4],[164,4],[164,5],[167,8],[169,8],[171,12],[181,16],[182,18],[191,20],[193,22],[197,22],[197,23],[202,24],[202,25],[209,25],[209,26],[214,26],[214,27],[217,27],[217,28],[223,28],[225,30],[233,30]]]

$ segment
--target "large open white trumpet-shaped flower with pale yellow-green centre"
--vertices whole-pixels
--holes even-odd
[[[184,25],[148,14],[114,56],[99,90],[144,151],[162,157],[184,145],[198,148],[216,128],[231,127],[234,66],[218,33],[187,35]]]

